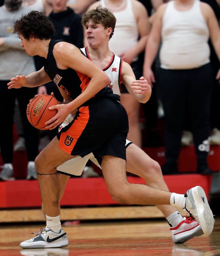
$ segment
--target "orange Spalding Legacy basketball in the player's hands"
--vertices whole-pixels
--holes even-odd
[[[51,95],[41,94],[34,97],[27,107],[28,121],[37,129],[47,130],[45,122],[57,114],[57,109],[48,108],[57,104],[59,104],[58,101]]]

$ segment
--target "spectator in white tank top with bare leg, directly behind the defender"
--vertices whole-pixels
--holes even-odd
[[[114,36],[109,42],[110,50],[129,63],[136,79],[139,79],[143,73],[139,54],[144,51],[150,29],[146,8],[138,0],[100,0],[90,5],[88,10],[95,9],[98,5],[111,10],[117,19]],[[86,46],[87,42],[84,42]],[[127,138],[141,147],[140,103],[127,92],[124,85],[122,85],[120,102],[127,111],[129,119]]]

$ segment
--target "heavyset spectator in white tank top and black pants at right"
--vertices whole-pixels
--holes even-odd
[[[145,50],[144,77],[155,81],[151,66],[160,42],[160,98],[165,113],[163,174],[178,172],[181,135],[189,119],[197,156],[197,172],[210,175],[210,100],[213,87],[208,39],[220,59],[220,29],[211,7],[199,0],[171,0],[156,11]],[[219,78],[219,77],[218,77]]]

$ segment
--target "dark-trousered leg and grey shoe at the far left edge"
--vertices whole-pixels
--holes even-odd
[[[0,180],[14,180],[13,161],[13,128],[14,108],[17,90],[8,90],[9,81],[0,81],[0,149],[3,159],[3,169],[0,173]],[[7,112],[5,112],[7,110]]]

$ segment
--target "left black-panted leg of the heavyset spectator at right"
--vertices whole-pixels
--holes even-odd
[[[178,173],[177,161],[186,114],[185,71],[160,70],[160,98],[164,109],[165,156],[163,174]]]

